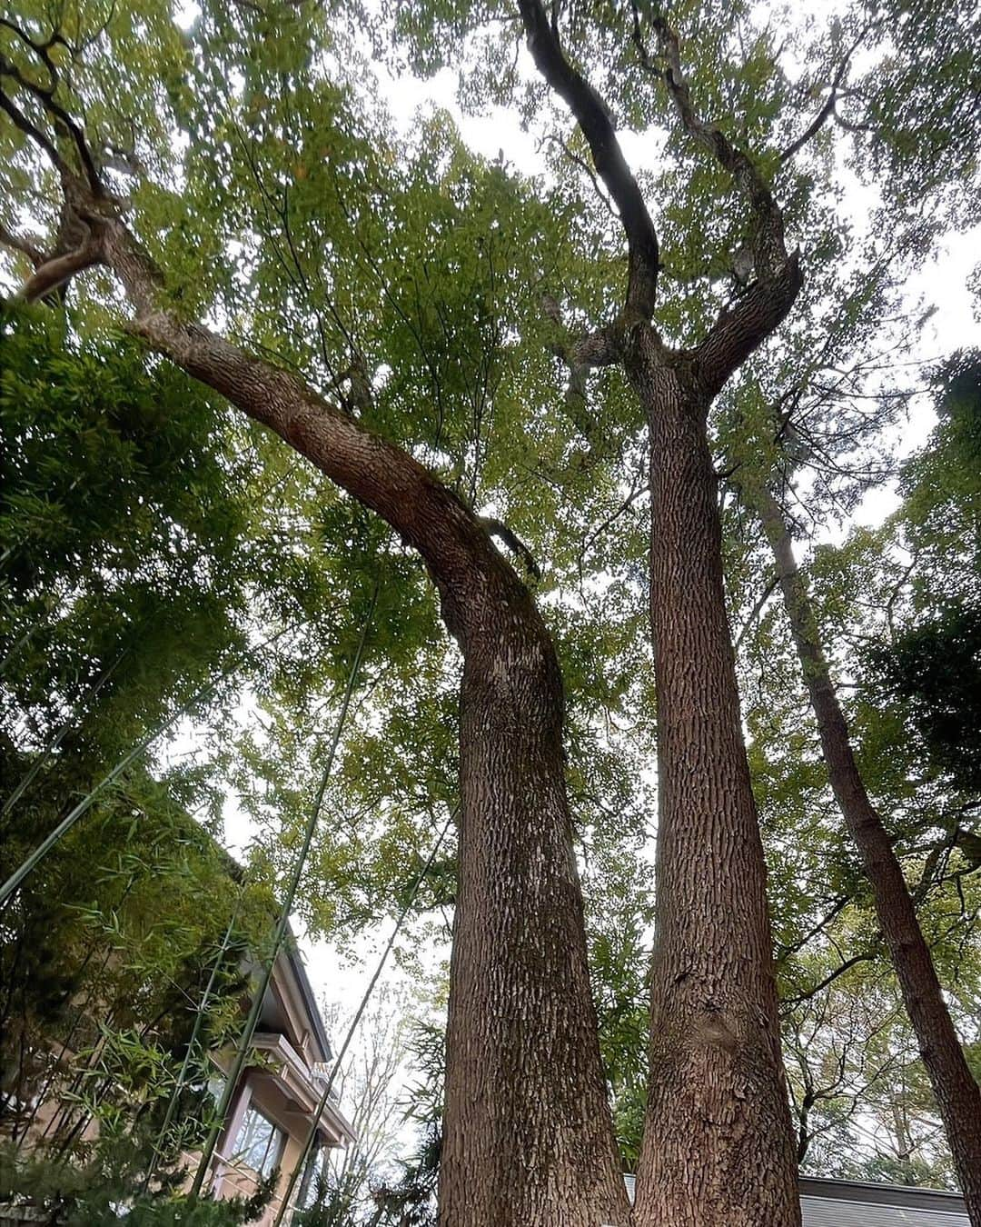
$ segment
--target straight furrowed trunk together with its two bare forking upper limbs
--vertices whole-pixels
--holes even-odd
[[[790,310],[801,285],[798,259],[787,253],[764,175],[695,109],[677,34],[662,17],[645,22],[635,10],[641,65],[654,69],[656,59],[682,128],[731,177],[750,218],[752,285],[698,345],[672,346],[652,323],[655,226],[609,109],[567,56],[544,6],[525,0],[520,10],[535,63],[573,110],[628,245],[623,309],[567,360],[574,368],[622,363],[650,432],[657,919],[635,1220],[792,1223],[800,1206],[765,866],[739,726],[706,422],[728,377]]]

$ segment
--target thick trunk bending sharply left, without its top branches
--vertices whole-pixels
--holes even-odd
[[[412,456],[294,375],[167,310],[121,222],[93,226],[93,242],[136,308],[134,331],[419,551],[460,644],[441,1227],[624,1227],[565,793],[562,677],[529,590],[486,526]],[[43,269],[36,280],[44,285]]]

